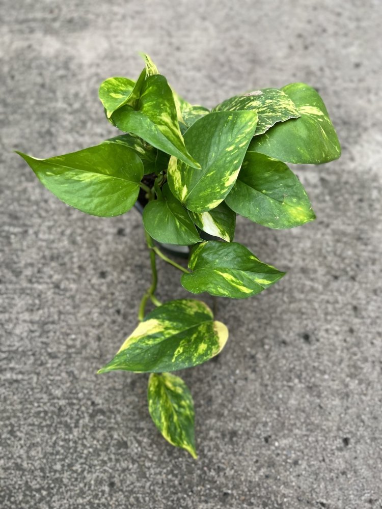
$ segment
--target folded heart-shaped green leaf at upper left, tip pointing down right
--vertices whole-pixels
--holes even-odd
[[[135,107],[120,107],[111,120],[121,131],[140,136],[153,147],[178,157],[190,166],[200,167],[184,146],[173,94],[165,76],[149,76],[142,84]]]

